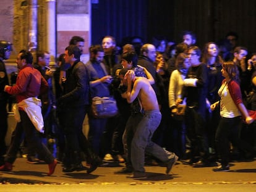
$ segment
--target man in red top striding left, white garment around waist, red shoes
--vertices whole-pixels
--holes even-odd
[[[24,49],[20,51],[16,59],[17,67],[20,70],[16,84],[14,86],[6,85],[4,87],[4,91],[16,95],[20,120],[17,119],[18,123],[12,133],[11,145],[4,159],[5,163],[0,167],[0,170],[12,170],[20,143],[23,140],[23,133],[25,133],[28,145],[40,157],[43,157],[43,160],[48,164],[49,172],[47,175],[52,175],[57,161],[51,152],[49,152],[48,148],[41,143],[38,136],[38,131],[43,133],[43,116],[41,114],[41,101],[37,97],[40,93],[46,93],[48,83],[41,73],[33,68],[32,62],[33,56],[31,52]]]

